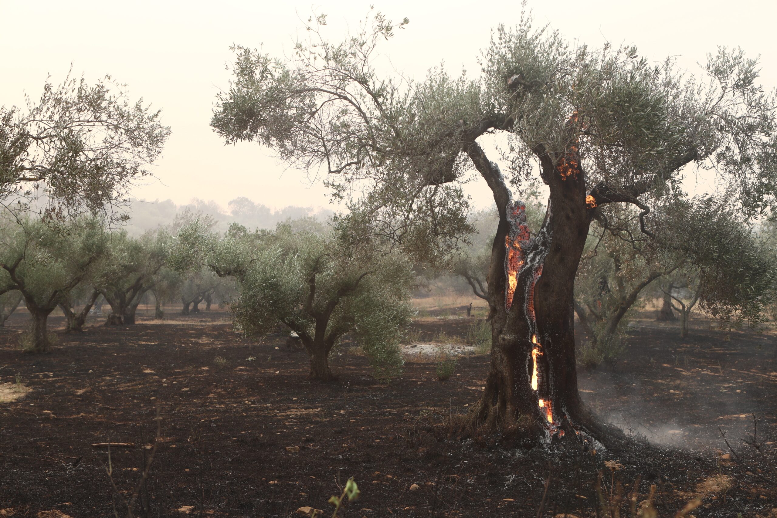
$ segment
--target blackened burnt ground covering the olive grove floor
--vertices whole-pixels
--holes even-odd
[[[655,485],[660,516],[695,497],[697,518],[777,516],[777,339],[726,337],[697,322],[683,340],[676,326],[649,318],[632,331],[625,360],[580,373],[580,388],[601,415],[651,442],[591,454],[575,444],[475,443],[434,426],[476,401],[487,356],[462,357],[444,382],[433,360],[409,361],[401,378],[381,384],[363,356],[343,353],[333,358],[340,380],[321,384],[305,379],[305,353],[287,349],[282,335],[241,339],[225,312],[141,315],[131,327],[96,320],[81,334],[57,332],[42,356],[19,351],[19,312],[0,329],[0,382],[18,379],[30,391],[0,402],[0,516],[113,516],[121,502],[107,449],[91,446],[108,441],[136,445],[111,449],[123,495],[141,475],[143,446],[157,444],[149,516],[183,516],[184,506],[190,516],[300,516],[300,506],[329,516],[327,499],[351,476],[362,493],[344,506],[346,518],[598,516],[598,471],[605,500],[612,481],[629,493],[639,478],[636,502]],[[465,335],[470,322],[426,318],[418,327],[429,337]],[[742,441],[752,440],[753,415],[763,454]],[[622,468],[613,473],[606,461]]]

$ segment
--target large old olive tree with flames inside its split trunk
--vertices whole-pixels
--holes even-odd
[[[435,68],[406,82],[375,69],[378,42],[396,27],[384,16],[342,43],[322,37],[325,23],[313,20],[312,39],[287,59],[236,47],[214,130],[322,169],[375,234],[430,256],[470,230],[461,184],[474,168],[500,220],[488,274],[490,374],[466,426],[520,431],[528,443],[620,443],[577,390],[573,287],[591,221],[629,203],[640,231],[664,239],[651,207],[684,196],[681,175],[700,169],[716,172],[725,203],[744,217],[773,203],[777,103],[756,82],[757,62],[720,49],[704,78],[688,77],[671,59],[656,66],[635,47],[573,46],[522,16],[493,33],[477,78]],[[507,137],[508,174],[483,145],[497,132]],[[549,189],[534,235],[513,197],[532,176]],[[704,250],[688,250],[689,260]],[[727,307],[725,294],[713,295]]]

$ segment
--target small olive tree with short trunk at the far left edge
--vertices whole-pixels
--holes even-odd
[[[23,335],[23,348],[45,353],[50,346],[51,311],[78,283],[89,279],[106,253],[103,224],[94,218],[59,225],[26,218],[16,224],[7,222],[0,235],[0,284],[19,290],[30,311],[30,332]]]

